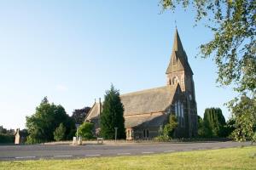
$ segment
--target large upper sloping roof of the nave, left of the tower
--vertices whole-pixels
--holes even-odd
[[[172,104],[176,87],[165,86],[120,95],[125,108],[124,116],[165,111]]]

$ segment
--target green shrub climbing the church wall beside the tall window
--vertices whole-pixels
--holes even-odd
[[[164,129],[160,130],[160,135],[155,139],[158,141],[168,141],[172,139],[177,125],[177,117],[171,114],[169,116],[169,122],[165,125]]]

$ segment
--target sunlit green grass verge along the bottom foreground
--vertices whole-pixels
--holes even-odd
[[[256,147],[78,160],[0,161],[0,169],[256,169]]]

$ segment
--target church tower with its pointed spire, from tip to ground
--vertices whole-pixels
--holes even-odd
[[[197,132],[197,108],[195,101],[195,85],[193,71],[190,68],[188,57],[183,49],[182,42],[177,32],[174,35],[171,60],[166,70],[167,86],[179,83],[185,95],[185,113],[188,116],[189,137],[196,136]]]

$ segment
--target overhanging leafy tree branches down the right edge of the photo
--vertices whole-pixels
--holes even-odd
[[[238,118],[235,139],[252,136],[251,127],[246,125],[255,110],[247,108],[241,97],[246,95],[254,103],[256,100],[255,0],[160,0],[164,10],[174,11],[179,4],[195,8],[195,23],[204,20],[212,31],[212,40],[201,45],[201,56],[212,57],[218,67],[217,81],[223,86],[235,86],[239,94],[228,104]]]

